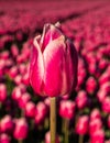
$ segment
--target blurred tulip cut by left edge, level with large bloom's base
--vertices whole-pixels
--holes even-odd
[[[7,86],[0,84],[0,102],[3,102],[7,99]]]

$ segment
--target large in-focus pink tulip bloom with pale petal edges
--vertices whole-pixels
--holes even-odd
[[[43,35],[34,38],[32,47],[30,81],[33,89],[50,97],[70,92],[77,84],[77,61],[76,50],[59,25],[45,24]]]

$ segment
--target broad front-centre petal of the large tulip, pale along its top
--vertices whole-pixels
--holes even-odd
[[[62,68],[64,57],[64,36],[50,42],[46,46],[44,56],[44,90],[51,96],[59,96],[62,89]]]

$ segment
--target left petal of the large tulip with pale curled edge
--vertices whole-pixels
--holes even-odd
[[[33,89],[37,92],[42,92],[42,81],[44,75],[44,63],[41,47],[38,45],[40,37],[35,37],[30,64],[30,81]]]

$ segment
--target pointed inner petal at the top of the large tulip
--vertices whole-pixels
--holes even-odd
[[[58,29],[58,26],[59,26],[58,23],[56,24],[56,26],[50,23],[44,25],[43,35],[41,38],[42,52],[51,41],[62,35],[62,32]]]

